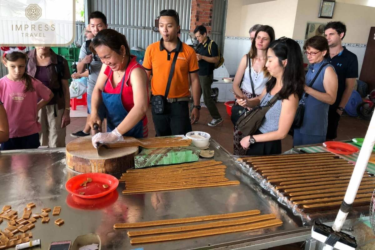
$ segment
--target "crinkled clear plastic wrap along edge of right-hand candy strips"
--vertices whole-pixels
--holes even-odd
[[[240,167],[242,172],[249,177],[252,177],[264,190],[269,192],[272,196],[274,196],[277,201],[286,206],[290,209],[295,216],[298,216],[302,219],[303,226],[311,226],[313,225],[314,221],[325,223],[335,220],[335,217],[339,211],[339,209],[333,211],[324,211],[324,213],[314,212],[313,218],[310,214],[306,214],[302,209],[298,208],[297,205],[293,204],[293,202],[289,201],[287,197],[285,197],[281,192],[279,192],[275,187],[273,187],[265,178],[262,177],[261,174],[256,172],[251,166],[246,164],[241,160],[238,160],[240,157],[234,156],[237,162],[237,165]],[[354,210],[354,211],[353,211]],[[368,210],[368,208],[367,208]],[[356,211],[355,208],[352,209],[350,213],[350,217],[359,218],[363,217],[364,214],[360,211]]]

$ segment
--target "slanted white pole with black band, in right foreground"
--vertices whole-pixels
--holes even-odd
[[[367,168],[367,163],[369,162],[372,150],[375,143],[375,115],[372,116],[369,127],[366,132],[365,140],[359,156],[357,159],[356,166],[354,167],[353,174],[350,178],[347,192],[345,193],[344,201],[341,204],[340,211],[337,214],[335,223],[332,229],[335,232],[341,231],[344,225],[345,219],[348,216],[349,210],[353,205],[354,199],[356,198],[359,185],[362,181],[363,173]]]

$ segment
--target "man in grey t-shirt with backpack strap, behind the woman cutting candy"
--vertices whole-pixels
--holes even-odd
[[[93,55],[89,49],[91,39],[93,39],[99,31],[108,28],[107,18],[100,11],[94,11],[89,15],[89,26],[87,26],[85,35],[88,38],[86,42],[81,46],[80,58],[77,64],[77,73],[84,73],[86,71],[87,65],[89,65],[89,76],[87,78],[87,121],[90,120],[91,114],[91,96],[98,79],[99,72],[102,68],[102,61],[97,55]],[[91,32],[91,33],[90,33]],[[91,37],[89,39],[89,37]],[[104,104],[99,107],[99,116],[102,120],[106,118]],[[106,127],[106,126],[105,126]],[[80,130],[76,133],[71,133],[72,137],[82,137],[90,135],[90,126],[86,122],[84,130]],[[101,131],[101,128],[99,128]]]

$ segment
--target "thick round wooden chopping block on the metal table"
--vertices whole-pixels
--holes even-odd
[[[92,136],[84,136],[66,145],[66,164],[80,173],[111,174],[134,167],[134,156],[138,146],[121,148],[100,148],[98,151],[91,142]]]

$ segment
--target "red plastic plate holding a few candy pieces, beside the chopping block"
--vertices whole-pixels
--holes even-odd
[[[87,183],[86,187],[80,186],[83,181],[87,181],[87,178],[91,178],[92,182]],[[104,184],[107,184],[108,188],[105,189],[103,187]],[[65,184],[65,188],[69,193],[85,199],[94,199],[105,196],[115,190],[117,186],[117,178],[109,174],[101,173],[80,174],[70,178]],[[85,194],[80,195],[81,192],[84,192]]]

